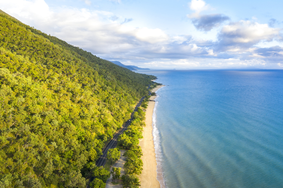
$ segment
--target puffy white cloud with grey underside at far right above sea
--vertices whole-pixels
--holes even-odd
[[[223,26],[218,34],[218,47],[222,51],[248,52],[260,41],[281,39],[280,30],[252,21],[232,22]]]

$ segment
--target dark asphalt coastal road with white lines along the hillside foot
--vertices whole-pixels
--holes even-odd
[[[148,86],[149,86],[149,87],[148,87],[147,89],[150,88],[150,85],[148,85]],[[150,90],[148,90],[148,92],[149,92],[148,95],[151,95]],[[138,107],[140,107],[140,105],[141,105],[141,103],[142,103],[142,101],[143,101],[144,98],[145,98],[145,96],[140,99],[140,102],[136,105],[136,108],[135,108],[134,112],[138,111]],[[106,156],[107,156],[107,151],[108,151],[108,149],[115,148],[115,147],[117,146],[117,138],[118,138],[118,136],[119,136],[120,134],[123,134],[123,132],[126,131],[127,128],[128,128],[128,126],[131,124],[131,122],[132,122],[132,120],[133,120],[133,118],[134,118],[134,112],[132,112],[131,118],[125,123],[125,125],[119,130],[119,132],[117,132],[116,134],[114,134],[113,138],[108,142],[108,144],[106,145],[106,147],[104,147],[104,149],[102,150],[102,155],[101,155],[101,156],[98,158],[98,160],[96,161],[96,165],[97,165],[97,166],[103,166],[103,167],[104,167],[104,165],[105,165],[105,163],[106,163],[106,160],[107,160]],[[89,182],[92,182],[92,181],[94,180],[94,178],[95,178],[95,177],[92,176],[92,177],[90,178]],[[86,188],[91,188],[91,187],[89,187],[89,185],[87,185]]]

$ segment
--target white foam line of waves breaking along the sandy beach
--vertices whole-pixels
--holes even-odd
[[[161,88],[159,88],[158,90],[160,90]],[[156,92],[158,91],[156,90]],[[155,92],[155,93],[156,93]],[[156,98],[158,98],[158,94],[156,93]],[[155,100],[156,101],[156,100]],[[160,183],[160,187],[161,188],[166,188],[166,183],[165,183],[165,179],[164,179],[164,175],[163,175],[163,171],[162,171],[162,149],[161,149],[161,143],[160,143],[160,136],[159,136],[159,131],[156,127],[156,106],[158,104],[158,101],[155,102],[154,108],[153,108],[153,114],[152,114],[152,127],[153,127],[153,143],[154,143],[154,149],[155,149],[155,157],[156,157],[156,162],[157,162],[157,166],[156,166],[156,172],[157,172],[157,180]]]

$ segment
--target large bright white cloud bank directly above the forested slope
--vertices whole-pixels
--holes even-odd
[[[57,36],[94,54],[140,50],[150,44],[168,40],[167,34],[158,28],[121,25],[121,22],[129,22],[132,19],[125,18],[122,21],[112,12],[69,7],[50,10],[43,0],[6,1],[0,5],[4,11],[23,23],[35,26],[47,34]]]

